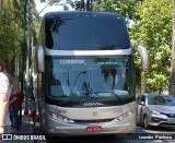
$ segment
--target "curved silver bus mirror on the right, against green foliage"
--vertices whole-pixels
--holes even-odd
[[[149,70],[149,56],[148,56],[147,48],[143,46],[138,46],[136,50],[138,50],[141,56],[143,71],[148,71]]]

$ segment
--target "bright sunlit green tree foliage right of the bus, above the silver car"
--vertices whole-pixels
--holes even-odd
[[[130,31],[133,44],[144,45],[149,50],[150,70],[142,75],[147,79],[148,92],[161,93],[168,90],[172,13],[171,0],[144,0],[136,13],[140,21]]]

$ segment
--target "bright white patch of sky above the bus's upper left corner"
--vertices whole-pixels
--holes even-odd
[[[40,2],[40,0],[35,0],[35,3],[36,3],[36,10],[38,12],[40,12],[46,5],[47,3],[46,2]],[[47,5],[39,14],[39,16],[43,16],[45,13],[47,12],[51,12],[51,11],[62,11],[62,5]]]

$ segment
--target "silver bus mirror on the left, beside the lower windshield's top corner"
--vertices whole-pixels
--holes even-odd
[[[45,71],[45,51],[43,46],[37,47],[36,52],[36,63],[37,63],[37,72],[42,73]]]

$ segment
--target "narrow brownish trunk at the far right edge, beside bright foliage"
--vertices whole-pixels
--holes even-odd
[[[170,94],[175,96],[175,0],[173,0],[172,75]]]

